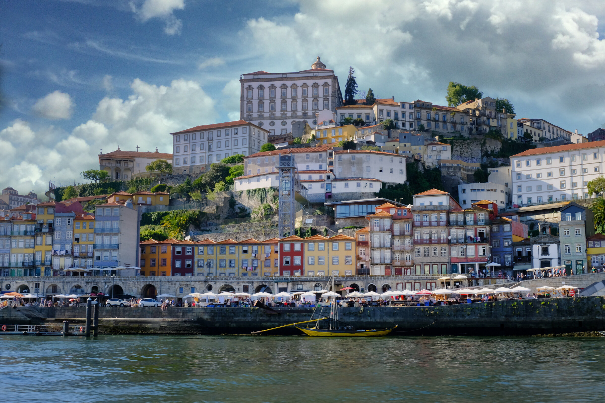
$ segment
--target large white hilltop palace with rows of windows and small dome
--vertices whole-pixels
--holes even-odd
[[[270,135],[289,133],[298,121],[315,127],[317,112],[336,112],[342,105],[338,76],[325,68],[319,56],[309,70],[255,71],[242,74],[240,83],[240,119],[267,129]]]

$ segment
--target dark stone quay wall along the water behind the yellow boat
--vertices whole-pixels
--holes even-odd
[[[499,300],[448,306],[339,308],[359,328],[392,327],[393,335],[536,335],[605,330],[605,298]],[[99,308],[99,334],[250,334],[305,321],[313,309]],[[313,318],[329,315],[317,309]],[[0,310],[0,324],[83,324],[85,308],[19,307]],[[299,334],[293,327],[276,331]]]

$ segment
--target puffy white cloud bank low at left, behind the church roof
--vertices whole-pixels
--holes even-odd
[[[157,86],[135,79],[126,99],[106,96],[86,123],[71,133],[53,126],[34,127],[15,120],[0,131],[0,186],[14,185],[44,194],[48,181],[77,182],[80,172],[98,169],[100,149],[171,152],[171,132],[215,123],[215,102],[194,81]],[[41,158],[44,156],[44,158]]]

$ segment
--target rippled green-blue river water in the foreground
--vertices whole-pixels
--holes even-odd
[[[2,402],[602,402],[605,338],[3,336]]]

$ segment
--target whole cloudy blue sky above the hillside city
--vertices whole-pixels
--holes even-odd
[[[97,155],[171,152],[239,118],[240,74],[310,68],[446,105],[450,81],[517,117],[605,124],[602,0],[19,0],[0,13],[0,189],[83,182]]]

